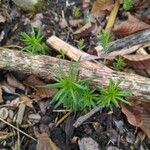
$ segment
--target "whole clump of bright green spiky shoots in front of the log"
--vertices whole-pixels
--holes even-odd
[[[69,66],[68,73],[59,66],[55,70],[56,77],[54,77],[54,80],[56,83],[41,86],[59,89],[54,93],[51,101],[55,108],[63,106],[76,112],[86,108],[91,109],[97,104],[109,108],[112,108],[113,105],[119,107],[119,101],[129,104],[125,97],[131,94],[128,91],[119,89],[120,81],[110,80],[108,87],[99,86],[100,94],[98,94],[95,89],[91,90],[90,88],[90,82],[94,78],[79,79],[78,73],[77,63],[72,63]]]

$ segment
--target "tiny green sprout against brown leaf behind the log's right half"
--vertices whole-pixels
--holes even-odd
[[[113,63],[113,67],[115,70],[121,70],[125,65],[124,58],[122,56],[118,56],[115,58],[115,61]]]

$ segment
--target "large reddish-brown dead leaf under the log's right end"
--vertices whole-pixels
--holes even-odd
[[[121,111],[130,124],[141,128],[150,138],[150,103],[136,97],[129,97],[128,100],[131,105],[121,103]]]

